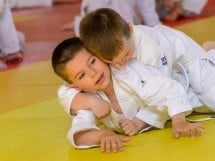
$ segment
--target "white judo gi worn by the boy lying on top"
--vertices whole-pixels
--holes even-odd
[[[133,28],[134,57],[172,78],[182,72],[178,80],[201,101],[195,98],[195,106],[203,104],[215,111],[215,53],[207,53],[184,33],[164,25]]]

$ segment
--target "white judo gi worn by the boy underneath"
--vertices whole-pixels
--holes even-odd
[[[142,70],[139,70],[140,68]],[[112,69],[112,76],[114,91],[123,114],[112,111],[108,117],[102,119],[102,123],[117,132],[122,132],[118,125],[121,118],[137,117],[151,126],[162,129],[170,117],[192,111],[181,84],[164,76],[156,68],[132,60],[125,69]],[[109,101],[104,93],[97,94]],[[73,139],[75,133],[89,129],[99,129],[95,116],[88,110],[78,111],[68,132],[71,144],[77,148],[94,146],[77,146]]]

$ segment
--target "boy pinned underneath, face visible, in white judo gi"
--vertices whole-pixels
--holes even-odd
[[[52,66],[70,87],[95,91],[94,94],[111,102],[111,114],[102,119],[109,128],[128,134],[136,130],[137,133],[147,124],[163,128],[171,117],[174,137],[201,135],[201,124],[185,121],[185,115],[192,111],[192,107],[184,88],[156,68],[131,60],[122,70],[110,70],[107,64],[85,49],[79,38],[67,39],[55,48]],[[78,111],[68,133],[72,144],[78,148],[100,144],[105,152],[120,150],[126,139],[99,129],[95,122],[90,111]]]

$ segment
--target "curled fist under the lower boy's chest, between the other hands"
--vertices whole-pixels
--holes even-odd
[[[119,125],[124,133],[128,136],[136,135],[139,132],[139,129],[137,128],[133,120],[121,119],[119,121]]]

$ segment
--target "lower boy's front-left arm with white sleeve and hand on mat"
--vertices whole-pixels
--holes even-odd
[[[67,136],[78,149],[101,146],[104,152],[117,152],[122,149],[122,142],[129,141],[128,137],[100,129],[95,115],[89,110],[77,111]]]

